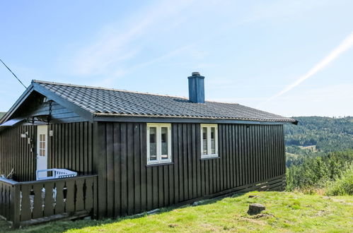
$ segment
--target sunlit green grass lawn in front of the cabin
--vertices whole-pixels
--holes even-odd
[[[257,198],[248,198],[257,195]],[[266,210],[250,216],[250,203]],[[8,231],[4,221],[0,230]],[[156,215],[117,220],[77,220],[25,227],[21,232],[352,232],[353,196],[324,197],[285,192],[250,192],[197,206],[162,209]]]

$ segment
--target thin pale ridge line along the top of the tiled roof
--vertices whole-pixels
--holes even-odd
[[[71,83],[57,83],[57,82],[50,82],[50,81],[45,81],[45,80],[35,80],[35,79],[32,80],[32,83],[45,83],[45,84],[51,84],[51,85],[65,85],[65,86],[74,87],[74,88],[91,88],[91,89],[98,89],[98,90],[113,90],[113,91],[137,93],[137,94],[142,94],[142,95],[157,95],[157,96],[175,97],[175,98],[180,98],[180,99],[184,99],[184,100],[189,100],[187,97],[178,96],[178,95],[163,95],[163,94],[157,94],[157,93],[139,92],[137,90],[122,90],[122,89],[115,89],[115,88],[103,88],[103,87],[96,87],[96,86],[92,86],[92,85],[77,85],[77,84],[71,84]],[[205,102],[215,102],[215,103],[221,103],[221,104],[238,104],[236,102],[220,102],[220,101],[214,101],[214,100],[205,100]]]

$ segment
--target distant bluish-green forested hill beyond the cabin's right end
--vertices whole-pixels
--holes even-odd
[[[294,117],[297,126],[285,125],[287,152],[303,154],[353,149],[353,117]],[[305,153],[304,153],[305,154]]]

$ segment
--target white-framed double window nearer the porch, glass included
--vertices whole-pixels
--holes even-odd
[[[172,162],[170,124],[147,124],[147,165]]]

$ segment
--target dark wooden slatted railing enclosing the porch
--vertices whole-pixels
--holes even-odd
[[[0,180],[0,215],[13,227],[95,215],[97,176],[45,181]]]

